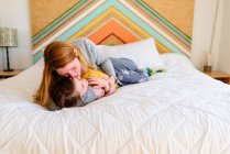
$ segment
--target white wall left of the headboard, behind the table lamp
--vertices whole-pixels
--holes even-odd
[[[18,47],[9,47],[10,67],[24,69],[32,65],[30,0],[0,0],[0,26],[18,29]],[[6,48],[0,48],[0,70],[6,68]]]

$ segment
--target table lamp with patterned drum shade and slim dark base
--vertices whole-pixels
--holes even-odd
[[[0,46],[7,47],[7,69],[4,72],[13,72],[10,68],[8,47],[18,46],[17,29],[0,28]]]

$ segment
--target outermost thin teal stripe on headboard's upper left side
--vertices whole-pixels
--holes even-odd
[[[61,18],[58,18],[57,20],[55,20],[52,24],[50,24],[47,28],[45,28],[45,30],[43,30],[42,32],[40,32],[39,34],[36,34],[35,36],[33,36],[32,38],[32,43],[35,43],[37,40],[40,40],[43,35],[47,34],[48,31],[51,31],[54,26],[56,26],[57,24],[59,24],[66,16],[68,16],[69,14],[72,14],[74,11],[76,11],[78,8],[80,8],[85,2],[87,2],[87,0],[83,0],[79,4],[77,4],[76,7],[74,7],[73,9],[68,10],[67,12],[65,12],[64,14],[62,14]]]

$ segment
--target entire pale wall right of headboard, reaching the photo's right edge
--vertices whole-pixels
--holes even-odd
[[[211,52],[212,69],[230,74],[229,7],[229,0],[195,0],[191,62],[200,70]]]

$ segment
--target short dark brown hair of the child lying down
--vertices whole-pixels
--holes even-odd
[[[56,80],[51,89],[51,98],[59,108],[83,107],[79,94],[75,92],[75,82],[67,77],[61,77]]]

